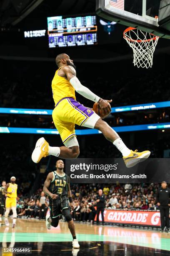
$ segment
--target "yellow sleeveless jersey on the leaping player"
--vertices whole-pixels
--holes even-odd
[[[52,96],[55,102],[55,105],[65,97],[71,97],[75,99],[75,89],[72,87],[67,78],[60,77],[58,75],[58,71],[61,69],[57,69],[55,72],[55,76],[52,79]]]

